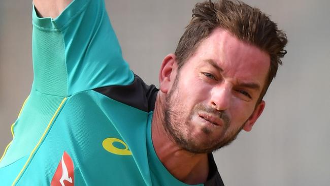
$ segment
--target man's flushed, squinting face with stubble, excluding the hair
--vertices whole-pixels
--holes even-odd
[[[182,68],[174,70],[164,109],[165,127],[193,153],[212,152],[250,131],[270,67],[266,52],[217,28]]]

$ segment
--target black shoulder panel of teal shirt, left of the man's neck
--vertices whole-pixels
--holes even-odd
[[[138,75],[134,75],[134,81],[129,85],[105,86],[94,90],[145,112],[154,110],[158,92],[155,85],[147,85]]]

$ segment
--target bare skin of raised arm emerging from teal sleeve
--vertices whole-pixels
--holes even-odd
[[[34,4],[39,17],[55,19],[72,0],[35,0]]]

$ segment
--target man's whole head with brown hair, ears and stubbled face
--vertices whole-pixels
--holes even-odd
[[[182,148],[205,153],[250,131],[265,107],[286,38],[240,2],[197,4],[175,54],[159,74],[164,128]]]

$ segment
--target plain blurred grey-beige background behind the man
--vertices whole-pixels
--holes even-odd
[[[192,0],[106,0],[124,58],[158,85],[191,17]],[[249,133],[215,153],[225,185],[330,185],[330,1],[246,0],[271,15],[289,43],[266,109]],[[30,91],[31,1],[0,1],[0,156]]]

